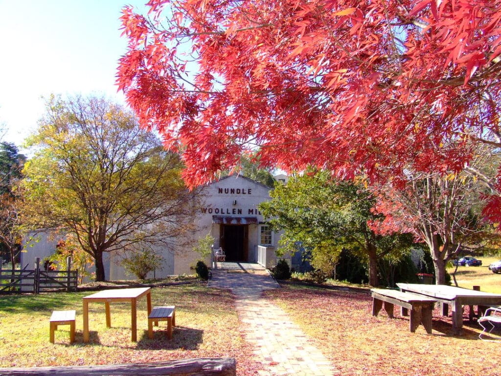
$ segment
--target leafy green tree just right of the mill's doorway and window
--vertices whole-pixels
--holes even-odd
[[[274,230],[283,230],[282,252],[297,242],[311,251],[312,264],[330,273],[343,249],[368,263],[369,284],[378,285],[378,260],[400,257],[412,244],[408,235],[380,236],[368,225],[374,200],[360,184],[334,181],[329,172],[293,176],[260,205]]]

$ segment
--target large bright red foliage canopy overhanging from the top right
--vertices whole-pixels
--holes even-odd
[[[258,146],[264,166],[370,180],[458,171],[475,145],[501,146],[501,0],[148,5],[123,10],[117,84],[192,186]],[[495,220],[501,178],[486,180]]]

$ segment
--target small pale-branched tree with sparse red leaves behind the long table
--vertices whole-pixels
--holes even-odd
[[[387,235],[407,232],[427,245],[437,284],[446,283],[447,261],[472,252],[492,238],[489,228],[480,226],[474,207],[482,195],[475,189],[475,179],[464,172],[407,172],[403,186],[392,183],[378,187],[376,214],[370,223],[376,233]]]

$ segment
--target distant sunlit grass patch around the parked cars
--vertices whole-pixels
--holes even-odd
[[[458,266],[456,271],[456,281],[459,287],[472,289],[473,286],[480,286],[481,291],[501,294],[501,274],[492,273],[489,265],[499,260],[498,257],[476,257],[482,260],[481,266]],[[452,274],[454,267],[447,268],[447,272]],[[452,284],[454,282],[452,281]]]

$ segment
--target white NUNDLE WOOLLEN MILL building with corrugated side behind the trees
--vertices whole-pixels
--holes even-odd
[[[227,262],[259,263],[267,268],[275,266],[279,236],[271,231],[258,209],[260,203],[270,200],[270,190],[264,184],[239,175],[230,175],[203,186],[202,205],[193,219],[197,227],[193,244],[210,234],[214,238],[213,247],[223,249]],[[55,252],[59,239],[47,233],[32,233],[40,240],[22,253],[22,265],[31,266],[37,257],[43,260]],[[151,272],[148,278],[192,274],[191,268],[200,258],[192,249],[176,253],[159,246],[154,249],[162,255],[164,263],[160,270]],[[120,255],[105,253],[103,261],[108,280],[136,278],[126,273],[120,263]],[[205,260],[209,266],[211,261]]]

